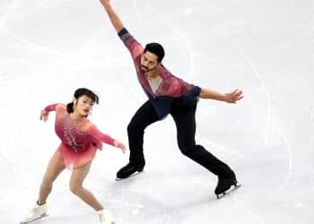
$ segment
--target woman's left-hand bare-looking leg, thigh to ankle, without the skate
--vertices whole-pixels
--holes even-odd
[[[51,157],[46,173],[42,179],[39,189],[38,204],[46,202],[48,195],[51,192],[53,182],[57,176],[65,169],[64,159],[59,151],[56,151]]]

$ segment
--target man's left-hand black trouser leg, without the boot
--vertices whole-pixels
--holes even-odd
[[[150,101],[146,101],[127,125],[130,161],[144,159],[144,129],[156,121],[158,121],[156,111]]]

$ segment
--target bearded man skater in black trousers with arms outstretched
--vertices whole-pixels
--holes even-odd
[[[162,64],[163,47],[158,43],[142,47],[126,30],[109,0],[100,0],[109,16],[118,36],[130,51],[135,64],[137,79],[148,100],[136,111],[127,126],[130,149],[129,163],[121,168],[118,178],[126,178],[135,172],[143,171],[145,160],[143,152],[144,129],[170,114],[177,126],[179,150],[189,159],[196,161],[218,177],[214,190],[217,198],[237,185],[237,179],[231,168],[217,159],[201,145],[195,142],[197,99],[216,99],[227,103],[236,103],[242,99],[241,90],[219,93],[184,82],[172,75]]]

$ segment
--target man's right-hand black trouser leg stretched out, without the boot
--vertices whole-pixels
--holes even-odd
[[[171,108],[171,116],[177,126],[177,138],[180,151],[193,159],[218,177],[231,177],[233,172],[220,159],[206,151],[202,145],[196,145],[196,106],[185,108]]]

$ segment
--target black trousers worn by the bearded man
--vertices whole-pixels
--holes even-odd
[[[231,177],[231,168],[221,160],[206,151],[202,145],[197,145],[196,134],[196,106],[172,106],[170,115],[177,126],[177,140],[179,150],[189,159],[196,161],[219,177]],[[158,116],[150,101],[146,101],[132,117],[127,125],[130,162],[144,164],[144,129],[158,121]]]

